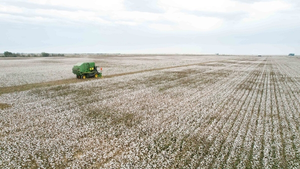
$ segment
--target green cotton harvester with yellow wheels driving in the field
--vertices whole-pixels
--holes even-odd
[[[95,66],[94,62],[85,62],[85,63],[76,63],[72,72],[76,74],[77,78],[86,78],[86,77],[101,77],[102,68],[99,69],[99,66]]]

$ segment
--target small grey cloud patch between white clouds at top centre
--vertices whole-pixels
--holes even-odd
[[[157,7],[157,0],[125,0],[124,5],[131,11],[143,11],[161,13],[163,10]]]

